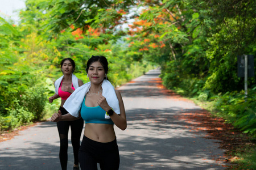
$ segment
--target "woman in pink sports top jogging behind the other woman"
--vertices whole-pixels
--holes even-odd
[[[49,97],[49,103],[52,103],[53,100],[61,97],[61,104],[60,104],[60,111],[61,114],[67,114],[68,112],[63,108],[65,101],[68,97],[75,91],[75,87],[73,87],[72,82],[72,74],[75,71],[75,61],[71,58],[64,58],[60,62],[61,71],[63,73],[63,79],[61,80],[60,86],[57,92]],[[82,86],[84,84],[82,80],[77,79],[78,85]],[[77,82],[76,82],[77,83]],[[61,169],[67,169],[68,164],[68,130],[69,126],[71,127],[71,142],[73,146],[73,153],[74,153],[74,165],[73,170],[79,169],[79,159],[78,159],[78,152],[80,148],[80,137],[82,133],[82,128],[84,127],[84,120],[82,118],[75,120],[75,121],[60,121],[57,122],[57,129],[59,131],[60,137],[60,165]]]

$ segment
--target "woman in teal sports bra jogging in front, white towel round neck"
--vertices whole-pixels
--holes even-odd
[[[119,169],[119,151],[114,124],[121,130],[127,127],[125,107],[120,92],[108,80],[108,61],[92,56],[87,62],[89,83],[79,87],[64,105],[69,112],[54,113],[51,121],[85,120],[84,138],[79,150],[81,169]],[[77,108],[77,109],[76,109]]]

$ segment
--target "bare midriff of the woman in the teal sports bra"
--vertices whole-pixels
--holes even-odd
[[[85,137],[97,142],[112,142],[115,139],[114,125],[109,124],[86,124]]]

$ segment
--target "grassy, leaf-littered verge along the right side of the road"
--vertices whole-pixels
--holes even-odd
[[[250,169],[256,170],[256,135],[243,133],[241,130],[235,128],[231,122],[236,121],[236,117],[234,115],[229,114],[229,110],[226,109],[224,111],[218,111],[216,107],[216,102],[207,100],[197,95],[188,95],[188,90],[184,90],[182,88],[171,88],[171,91],[176,94],[181,95],[185,99],[192,100],[195,104],[199,105],[201,108],[208,111],[213,117],[222,118],[224,120],[224,124],[227,124],[229,127],[225,129],[220,134],[214,134],[214,137],[222,141],[220,147],[225,150],[225,160],[230,163],[229,167],[226,169]],[[224,97],[229,97],[228,95]],[[230,109],[241,109],[238,105],[233,103],[229,103],[229,105],[225,105],[222,103],[222,100],[216,99],[219,105]],[[216,101],[215,100],[215,101]],[[244,105],[243,105],[244,107]],[[220,108],[220,107],[219,107]],[[229,123],[228,123],[229,122]],[[225,127],[225,126],[224,126]],[[241,126],[240,126],[241,128]]]

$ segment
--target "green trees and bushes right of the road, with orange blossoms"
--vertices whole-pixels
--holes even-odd
[[[218,104],[226,108],[220,111],[227,121],[254,134],[255,94],[245,103],[236,94],[243,94],[244,88],[243,78],[237,76],[237,55],[256,56],[255,10],[254,1],[163,1],[148,5],[131,27],[138,31],[130,33],[129,49],[161,65],[160,76],[167,88],[201,101],[225,94],[217,97],[216,108]],[[164,45],[149,48],[151,43]],[[255,80],[248,79],[250,90]],[[234,100],[226,103],[225,97],[230,96]]]

